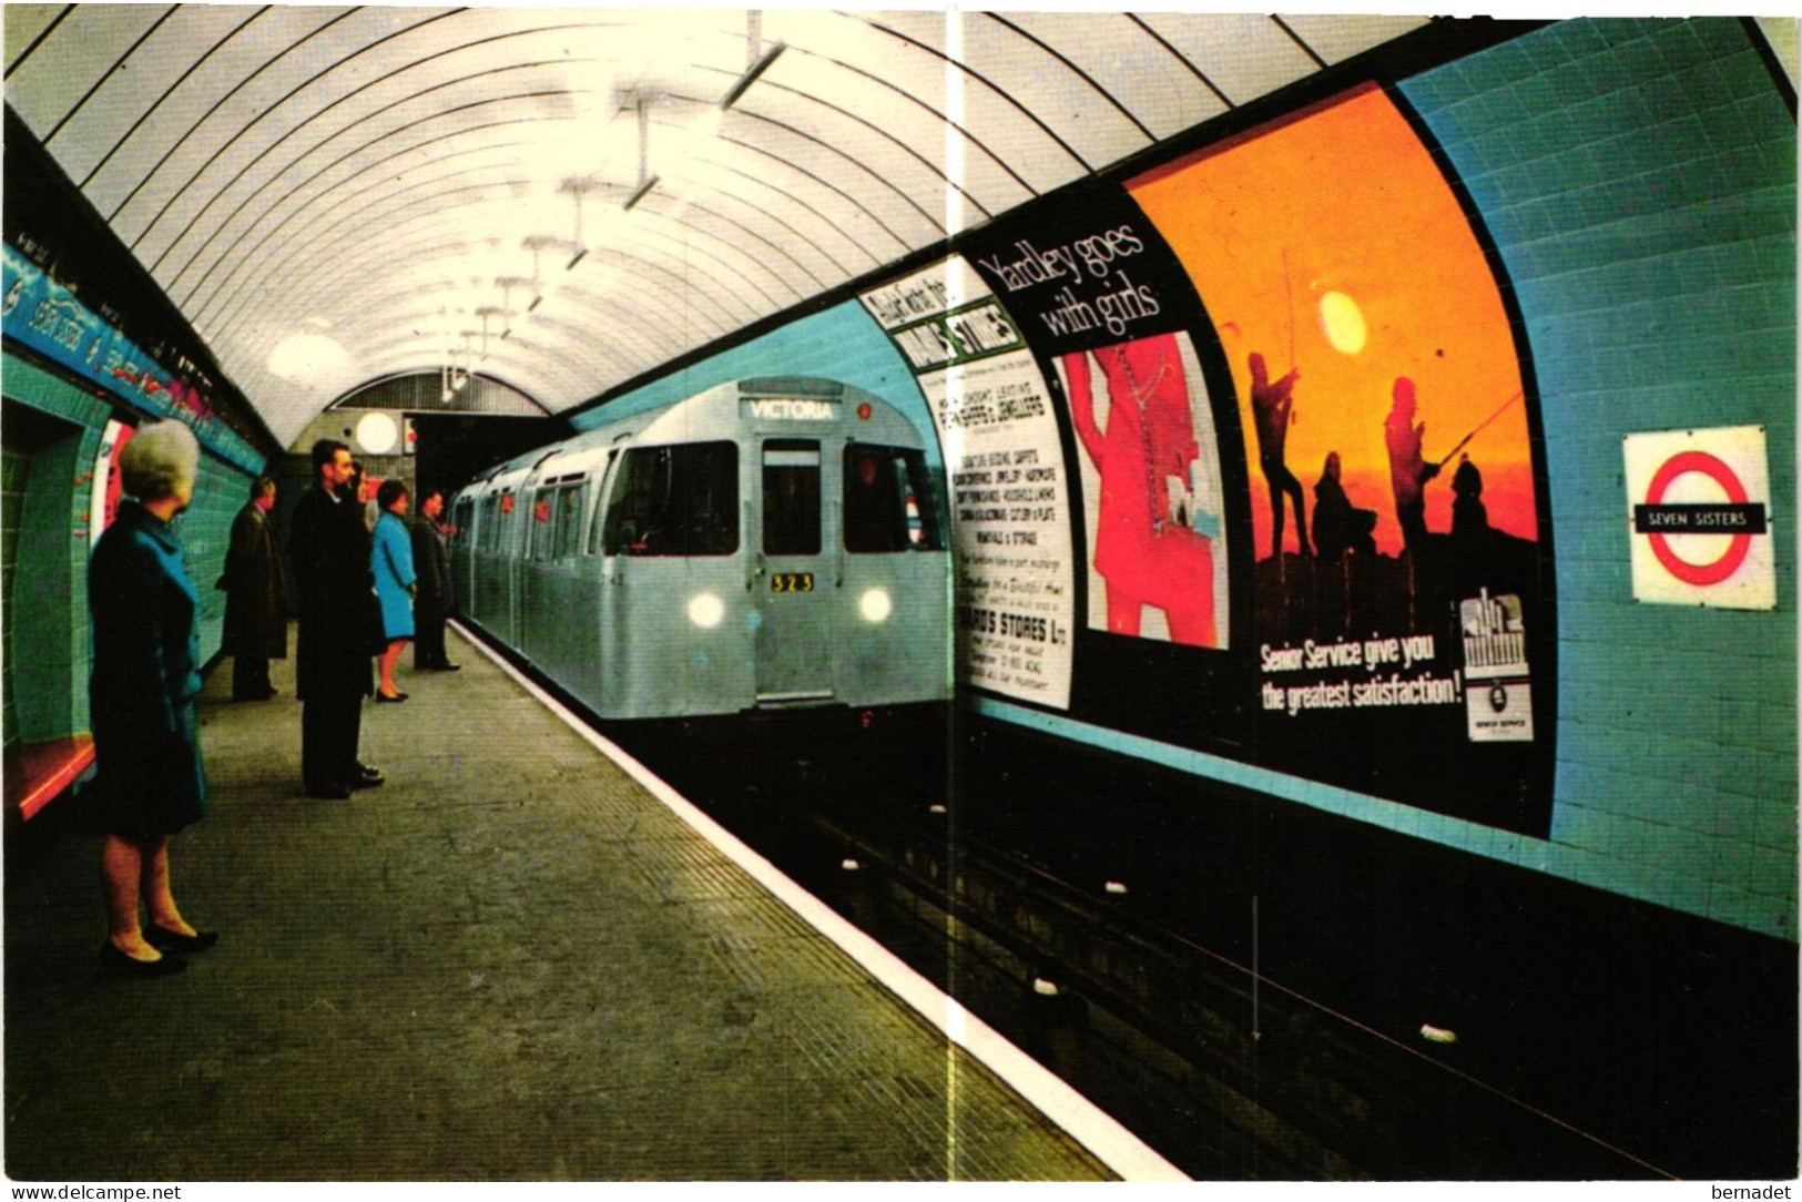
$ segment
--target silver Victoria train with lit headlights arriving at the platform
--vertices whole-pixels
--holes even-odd
[[[951,696],[951,566],[919,431],[833,380],[723,384],[450,499],[465,618],[604,719]]]

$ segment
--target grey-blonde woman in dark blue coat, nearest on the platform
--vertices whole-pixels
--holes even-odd
[[[195,496],[200,445],[180,422],[144,425],[119,454],[119,515],[88,560],[94,670],[88,714],[99,769],[94,813],[106,831],[101,968],[160,977],[187,968],[214,932],[187,924],[169,890],[169,836],[200,820],[205,769],[195,723],[200,622],[171,526]],[[139,924],[139,899],[150,923]]]

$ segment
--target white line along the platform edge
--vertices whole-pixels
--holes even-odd
[[[618,764],[625,775],[636,780],[665,809],[681,818],[683,824],[717,847],[728,860],[750,874],[751,879],[768,888],[777,901],[856,961],[878,984],[930,1022],[946,1040],[975,1056],[978,1063],[1006,1081],[1040,1114],[1063,1128],[1097,1161],[1119,1173],[1123,1180],[1191,1180],[1182,1170],[1126,1130],[1119,1119],[1079,1094],[1076,1087],[1038,1063],[1033,1056],[1020,1051],[1013,1040],[946,997],[939,986],[919,975],[901,957],[852,926],[849,919],[796,885],[782,869],[769,863],[732,831],[714,822],[714,818],[678,793],[669,782],[633,759],[625,748],[591,730],[564,703],[548,694],[537,681],[508,663],[485,642],[474,638],[458,622],[447,622],[447,625],[456,629],[465,642],[517,681],[539,705],[555,714],[596,751]]]

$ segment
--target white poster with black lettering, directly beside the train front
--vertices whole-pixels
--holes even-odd
[[[1069,708],[1070,503],[1033,353],[955,256],[861,301],[919,378],[944,451],[960,683]]]

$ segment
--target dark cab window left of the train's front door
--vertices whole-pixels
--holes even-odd
[[[739,447],[633,447],[602,528],[605,555],[732,555],[739,550]]]

